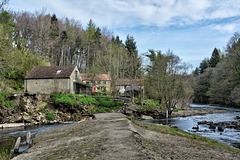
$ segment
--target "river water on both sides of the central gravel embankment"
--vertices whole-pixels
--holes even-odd
[[[211,139],[218,140],[225,143],[228,146],[240,149],[240,130],[225,128],[223,132],[218,130],[209,129],[209,125],[199,125],[199,130],[193,130],[192,127],[197,125],[199,121],[213,121],[217,122],[226,122],[226,121],[237,121],[234,119],[236,116],[240,116],[239,108],[227,108],[217,105],[199,105],[191,104],[190,109],[205,109],[205,110],[225,110],[226,113],[217,113],[217,114],[207,114],[203,116],[189,116],[189,117],[176,117],[169,119],[154,119],[154,120],[145,120],[146,122],[177,126],[178,128],[198,134],[203,137],[208,137]],[[71,122],[69,122],[71,123]],[[67,123],[65,123],[67,124]],[[0,129],[0,149],[1,148],[13,148],[13,143],[17,137],[22,137],[21,147],[19,152],[23,152],[29,148],[29,145],[25,142],[25,137],[27,132],[31,132],[32,138],[37,136],[39,133],[46,130],[62,126],[64,124],[54,124],[54,125],[42,125],[42,126],[28,126],[28,127],[18,127],[18,128],[9,128],[9,129]]]

